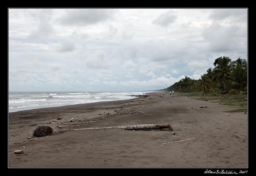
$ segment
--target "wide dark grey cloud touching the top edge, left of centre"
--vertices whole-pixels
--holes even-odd
[[[91,25],[112,18],[112,9],[72,9],[60,18],[62,25]]]

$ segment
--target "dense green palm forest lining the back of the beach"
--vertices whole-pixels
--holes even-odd
[[[248,64],[240,57],[231,61],[229,57],[215,59],[214,68],[209,68],[207,73],[198,80],[185,77],[165,91],[198,92],[214,94],[247,94]]]

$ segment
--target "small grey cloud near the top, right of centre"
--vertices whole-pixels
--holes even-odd
[[[156,19],[153,20],[153,23],[163,27],[168,26],[171,23],[175,22],[177,15],[173,14],[172,11],[167,11],[159,15]]]

